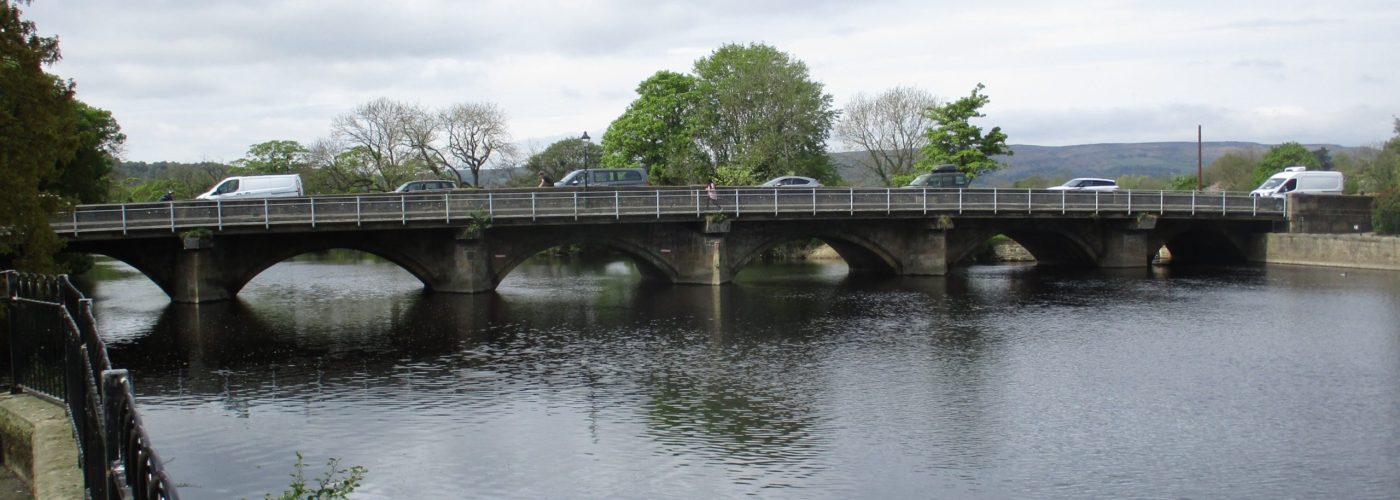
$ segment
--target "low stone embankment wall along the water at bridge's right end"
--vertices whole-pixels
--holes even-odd
[[[1400,237],[1270,232],[1259,238],[1263,255],[1253,258],[1267,263],[1400,270]]]

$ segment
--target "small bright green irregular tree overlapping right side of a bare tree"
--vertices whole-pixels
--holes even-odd
[[[979,174],[995,171],[1002,167],[993,160],[993,155],[1011,155],[1007,146],[1007,134],[1001,127],[993,127],[983,134],[981,127],[972,125],[973,118],[983,118],[979,109],[987,105],[991,98],[981,95],[983,84],[977,84],[972,94],[941,106],[928,108],[928,118],[938,123],[924,134],[928,146],[924,146],[924,158],[918,161],[920,168],[934,168],[942,164],[958,165],[958,169],[974,178]]]

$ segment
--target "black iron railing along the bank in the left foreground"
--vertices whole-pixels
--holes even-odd
[[[3,272],[11,391],[69,408],[90,499],[178,499],[136,412],[132,380],[113,370],[92,300],[67,276]]]

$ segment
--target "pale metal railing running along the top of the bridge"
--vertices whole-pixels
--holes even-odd
[[[1287,200],[1172,190],[728,188],[500,189],[252,200],[87,204],[50,220],[60,234],[491,220],[881,214],[1183,214],[1282,218]]]

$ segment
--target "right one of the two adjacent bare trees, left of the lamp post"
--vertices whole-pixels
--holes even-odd
[[[493,155],[510,158],[515,154],[510,132],[505,130],[505,113],[494,104],[455,104],[440,112],[437,122],[447,136],[448,154],[455,164],[472,171],[473,186],[480,186],[482,167]]]

